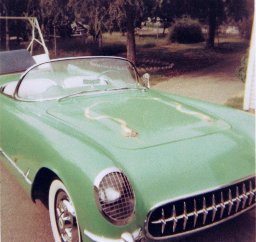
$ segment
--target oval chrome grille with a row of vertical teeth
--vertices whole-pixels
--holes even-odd
[[[255,206],[255,176],[152,209],[145,229],[148,238],[174,238],[210,227]]]

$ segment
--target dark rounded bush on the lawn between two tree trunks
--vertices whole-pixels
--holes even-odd
[[[170,29],[170,40],[178,43],[203,42],[204,36],[199,21],[188,16],[175,20]]]

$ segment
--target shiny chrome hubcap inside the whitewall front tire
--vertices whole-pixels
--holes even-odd
[[[55,216],[62,241],[78,241],[79,230],[77,228],[76,212],[67,193],[63,190],[56,193]]]

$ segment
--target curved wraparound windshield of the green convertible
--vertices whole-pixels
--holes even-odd
[[[17,96],[28,100],[62,99],[96,91],[146,88],[134,66],[119,58],[53,60],[29,70]]]

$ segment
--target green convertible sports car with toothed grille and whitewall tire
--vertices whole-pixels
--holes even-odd
[[[255,119],[127,59],[1,52],[1,160],[56,241],[171,240],[255,207]]]

